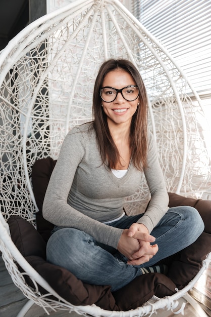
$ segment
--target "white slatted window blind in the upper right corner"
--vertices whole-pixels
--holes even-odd
[[[137,0],[140,22],[165,45],[199,95],[211,93],[211,1]]]

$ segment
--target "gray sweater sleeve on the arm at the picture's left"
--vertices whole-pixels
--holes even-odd
[[[67,203],[75,172],[84,151],[82,133],[72,129],[63,142],[59,159],[50,177],[43,202],[43,217],[58,226],[83,230],[96,241],[117,248],[122,229],[94,220]]]

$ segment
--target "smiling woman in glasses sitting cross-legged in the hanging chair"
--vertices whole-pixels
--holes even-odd
[[[135,66],[105,61],[93,92],[94,121],[66,136],[46,191],[43,215],[55,224],[47,260],[89,284],[116,291],[192,244],[203,221],[192,207],[168,208],[156,145],[147,131],[147,95]],[[142,173],[151,200],[125,215]],[[144,269],[149,267],[148,269]]]

